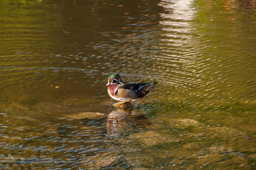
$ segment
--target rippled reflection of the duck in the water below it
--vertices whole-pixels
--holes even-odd
[[[108,114],[107,130],[108,135],[116,136],[125,133],[130,134],[130,130],[141,130],[147,128],[150,122],[143,113],[133,110],[123,110],[117,108]]]

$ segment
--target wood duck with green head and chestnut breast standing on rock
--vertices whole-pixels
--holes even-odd
[[[116,101],[135,101],[139,98],[143,98],[148,91],[153,89],[156,85],[155,82],[143,83],[143,84],[126,84],[123,83],[121,77],[118,74],[112,74],[108,77],[108,94]]]

